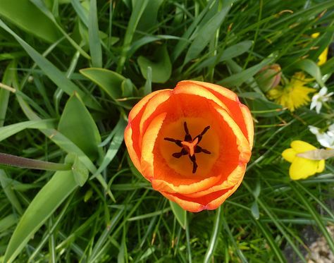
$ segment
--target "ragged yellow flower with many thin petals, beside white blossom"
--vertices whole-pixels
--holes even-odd
[[[315,89],[305,86],[310,81],[311,79],[305,78],[304,73],[297,72],[287,85],[269,90],[267,96],[290,111],[295,111],[310,102],[309,93],[316,92]]]

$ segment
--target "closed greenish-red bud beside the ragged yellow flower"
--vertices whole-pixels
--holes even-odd
[[[273,64],[261,68],[261,71],[256,74],[255,80],[263,92],[268,92],[280,83],[281,75],[280,65]]]

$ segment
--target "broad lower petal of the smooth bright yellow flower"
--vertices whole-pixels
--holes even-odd
[[[292,180],[299,180],[313,176],[318,169],[318,163],[319,161],[296,157],[290,166],[290,178]]]

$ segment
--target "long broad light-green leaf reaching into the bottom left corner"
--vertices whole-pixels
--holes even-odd
[[[4,262],[10,263],[23,250],[35,232],[49,219],[61,203],[78,188],[72,171],[57,171],[39,190],[25,210],[8,243]]]

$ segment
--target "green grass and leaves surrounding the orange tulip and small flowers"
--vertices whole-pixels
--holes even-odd
[[[0,88],[0,152],[73,171],[0,166],[0,262],[306,262],[306,226],[334,250],[333,159],[293,182],[280,155],[292,140],[320,147],[307,126],[333,122],[333,100],[276,111],[254,80],[275,62],[333,91],[333,59],[299,61],[333,42],[333,1],[20,3],[0,3],[0,80],[16,90]],[[240,188],[196,214],[154,191],[123,143],[138,99],[186,79],[235,91],[256,132]]]

